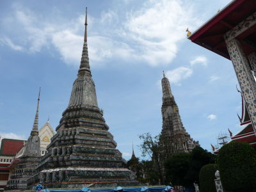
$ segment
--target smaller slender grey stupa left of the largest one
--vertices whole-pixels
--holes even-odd
[[[38,136],[38,109],[40,101],[40,90],[37,100],[36,116],[24,153],[15,168],[15,172],[8,180],[6,189],[27,189],[27,180],[35,174],[35,167],[40,163],[40,138]]]

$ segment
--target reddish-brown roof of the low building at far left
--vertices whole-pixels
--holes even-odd
[[[3,139],[1,142],[0,155],[15,156],[23,147],[24,140]]]

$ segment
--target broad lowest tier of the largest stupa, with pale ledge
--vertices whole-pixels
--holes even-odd
[[[55,168],[43,170],[28,179],[28,186],[40,182],[47,188],[72,188],[93,184],[93,187],[136,186],[135,175],[127,168]]]

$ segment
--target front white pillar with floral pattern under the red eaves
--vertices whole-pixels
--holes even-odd
[[[241,91],[246,102],[246,107],[252,120],[253,128],[256,127],[256,88],[249,63],[243,52],[239,40],[233,38],[226,40],[226,45],[230,59],[234,65],[237,80],[241,87]]]

